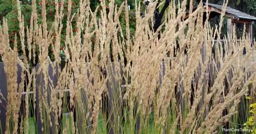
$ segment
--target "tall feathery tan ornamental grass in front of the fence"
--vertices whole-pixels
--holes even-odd
[[[65,2],[68,12],[63,12]],[[233,124],[240,120],[241,107],[246,112],[249,108],[245,94],[255,95],[255,46],[251,47],[245,32],[240,41],[235,33],[232,38],[227,35],[226,41],[220,40],[224,12],[219,27],[210,27],[208,19],[203,22],[202,2],[194,12],[190,10],[186,20],[187,1],[178,6],[171,2],[162,25],[154,32],[157,2],[147,7],[143,18],[141,5],[136,2],[136,30],[131,38],[127,2],[120,7],[114,1],[108,2],[106,11],[107,2],[102,1],[92,12],[90,1],[81,0],[75,14],[71,3],[62,0],[56,4],[54,23],[48,26],[45,0],[41,25],[36,1],[32,0],[27,28],[17,3],[19,33],[13,48],[9,47],[8,21],[3,19],[0,48],[8,85],[4,99],[8,104],[7,118],[1,122],[6,124],[5,133],[221,133],[225,124],[238,127]],[[226,6],[225,2],[223,11]],[[119,21],[123,11],[126,35]],[[74,18],[75,32],[71,24]],[[67,21],[63,48],[66,64],[61,69],[63,21]],[[16,51],[18,43],[23,59]],[[50,60],[49,51],[53,52],[54,61]],[[38,69],[29,64],[35,59],[35,52]],[[175,57],[167,57],[167,53]],[[19,86],[16,64],[22,66],[22,79],[27,79]],[[53,73],[49,66],[54,68]],[[45,76],[41,77],[41,84],[36,83],[38,74]],[[57,76],[56,84],[50,75]],[[33,96],[25,97],[26,110],[18,121],[21,93],[25,90],[33,92]],[[32,117],[32,130],[29,112],[36,113],[36,102],[40,118]]]

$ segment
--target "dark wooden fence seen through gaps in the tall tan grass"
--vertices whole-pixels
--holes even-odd
[[[203,49],[201,50],[201,54],[202,54],[202,59],[203,59],[203,62],[204,62],[204,60],[205,60],[205,47],[204,46],[203,46]],[[162,84],[162,79],[163,79],[163,77],[165,75],[165,69],[166,69],[166,66],[168,66],[168,62],[169,62],[168,59],[161,62],[161,70],[160,70],[160,73],[159,73],[159,75],[160,75],[160,84]],[[251,63],[255,63],[255,59],[253,59]],[[63,63],[61,63],[61,64],[62,64],[62,66],[65,65]],[[18,67],[17,83],[19,84],[22,81],[21,80],[22,68],[19,65],[17,65],[17,67]],[[38,68],[39,68],[39,64],[37,64],[35,66],[36,72],[37,72]],[[198,69],[201,70],[201,67],[199,66]],[[207,79],[208,83],[212,83],[211,80],[214,79],[214,78],[211,78],[212,77],[211,74],[212,74],[212,72],[215,72],[218,69],[220,69],[220,66],[217,66],[217,68],[215,68],[213,65],[209,64],[207,72],[205,73],[205,76],[203,76],[204,79]],[[57,84],[57,76],[53,75],[53,71],[54,71],[54,69],[52,68],[51,65],[49,65],[49,76],[48,76],[48,79],[51,79],[53,81],[53,85],[56,86],[56,84]],[[55,69],[55,71],[58,72],[57,69]],[[110,117],[111,118],[111,122],[113,122],[114,121],[114,117],[113,117],[113,115],[110,114],[111,113],[110,111],[112,111],[112,106],[114,105],[113,101],[112,101],[114,99],[114,93],[116,93],[116,92],[124,92],[126,87],[125,87],[125,85],[111,86],[113,84],[113,82],[118,83],[114,76],[116,76],[116,73],[122,74],[122,70],[117,69],[117,67],[115,65],[111,65],[111,69],[108,69],[108,71],[109,71],[108,72],[109,76],[112,76],[112,77],[108,81],[109,99],[106,99],[104,102],[108,102],[108,104],[107,104],[108,111],[109,111],[108,112],[108,117]],[[202,72],[198,71],[198,73],[199,74],[195,75],[194,79],[192,80],[193,83],[196,82],[198,84],[199,77],[197,77],[197,76],[200,76],[200,73],[202,73]],[[232,72],[230,72],[230,74],[232,74]],[[38,90],[42,89],[41,87],[39,87],[39,85],[49,86],[49,85],[45,85],[44,84],[44,82],[43,82],[44,77],[45,76],[43,76],[41,74],[36,74],[36,88],[35,88],[35,96],[36,96],[36,102],[35,102],[36,109],[35,109],[35,111],[36,111],[36,113],[35,113],[35,118],[36,118],[36,125],[37,125],[37,132],[38,133],[43,133],[41,131],[41,126],[43,124],[40,121],[40,114],[39,114],[39,108],[38,108],[39,107],[39,102],[38,102],[38,97],[39,97],[38,93],[39,93],[39,91]],[[183,109],[184,108],[185,100],[184,100],[184,98],[182,98],[181,95],[184,93],[185,89],[184,89],[182,83],[180,85],[177,85],[177,86],[178,86],[178,91],[177,91],[178,92],[178,96],[177,96],[177,99],[179,100],[178,103],[181,105],[181,108]],[[4,71],[4,63],[3,62],[0,62],[0,92],[4,95],[5,98],[7,98],[7,78],[6,78],[6,74],[5,74],[5,71]],[[69,92],[69,91],[67,90],[67,92]],[[205,92],[207,92],[207,89],[205,89],[203,87],[203,91],[202,91],[202,96],[203,97],[202,98],[204,98]],[[32,95],[33,92],[24,92],[22,94],[23,94],[23,97],[22,97],[22,100],[21,100],[22,104],[20,106],[20,114],[19,114],[20,117],[24,114],[24,107],[26,105],[25,104],[25,99],[24,99],[25,96],[29,95],[29,94]],[[86,97],[86,95],[84,95],[84,97]],[[48,96],[47,99],[50,100],[49,96]],[[5,109],[5,107],[6,107],[7,104],[6,104],[6,102],[2,98],[0,98],[0,100],[2,101],[2,104],[0,104],[0,121],[1,121],[2,132],[4,133],[4,131],[6,129],[6,126],[5,126],[5,124],[6,124],[6,109]],[[120,106],[122,106],[122,101],[123,100],[122,100],[121,97],[120,97],[120,100],[118,100],[118,101],[120,102]],[[191,102],[191,103],[193,103],[193,102]],[[200,101],[200,103],[203,104],[203,99]],[[198,107],[198,109],[200,109],[200,107]],[[182,111],[184,111],[184,110],[182,110]],[[138,119],[137,122],[139,122],[139,119]],[[139,123],[137,123],[137,128],[139,128]],[[49,133],[51,133],[51,131],[53,131],[53,128],[49,129]],[[0,131],[0,133],[1,133],[1,131]],[[112,129],[110,129],[110,133],[114,133]]]

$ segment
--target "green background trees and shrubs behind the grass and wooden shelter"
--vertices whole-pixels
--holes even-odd
[[[80,0],[73,0],[72,1],[72,13],[77,12],[78,8],[79,8],[79,1]],[[60,6],[60,0],[58,5]],[[68,0],[65,0],[65,4],[64,4],[64,18],[67,17],[67,6],[68,6]],[[122,0],[116,0],[115,4],[120,7],[120,5],[125,2]],[[145,12],[145,5],[143,5],[141,3],[142,1],[137,1],[137,4],[141,4],[141,12]],[[176,3],[178,1],[175,1]],[[209,3],[213,3],[213,4],[223,4],[223,1],[217,1],[217,0],[209,0]],[[15,34],[18,36],[18,31],[19,31],[19,27],[18,27],[18,20],[17,20],[17,8],[15,6],[16,1],[15,0],[0,0],[0,21],[3,19],[3,17],[5,16],[8,19],[8,26],[9,26],[9,37],[10,37],[10,44],[11,47],[13,47],[13,43],[14,43],[14,37]],[[129,11],[129,22],[130,22],[130,36],[131,38],[134,37],[135,34],[135,30],[136,30],[136,19],[135,19],[135,0],[131,0],[131,1],[127,1],[128,5],[131,6],[131,10]],[[195,1],[194,4],[197,5],[199,3],[199,1]],[[37,13],[41,14],[41,0],[36,0],[36,7],[37,7]],[[96,7],[100,5],[100,1],[99,0],[90,0],[90,7],[92,9],[92,11],[94,12]],[[189,2],[187,2],[187,5],[189,5]],[[106,6],[108,7],[108,2],[106,2]],[[160,5],[160,9],[162,8],[163,5]],[[228,6],[241,10],[242,12],[246,12],[248,14],[251,14],[253,16],[256,16],[256,0],[239,0],[239,1],[229,1]],[[25,20],[25,28],[30,25],[30,18],[31,18],[31,12],[32,12],[32,6],[31,6],[31,1],[28,0],[23,0],[22,2],[20,2],[20,7],[22,10],[22,14],[24,15],[24,20]],[[47,25],[48,25],[48,30],[52,28],[52,24],[54,21],[54,15],[55,15],[55,2],[52,0],[46,0],[46,10],[47,10]],[[108,11],[108,9],[107,9]],[[126,24],[125,24],[125,13],[124,10],[122,12],[122,15],[120,15],[120,24],[121,24],[121,28],[122,28],[122,33],[124,35],[124,38],[126,38]],[[98,13],[98,18],[99,18],[99,13]],[[38,16],[38,24],[41,24],[42,22],[42,16],[39,15]],[[73,24],[73,32],[76,32],[76,28],[75,28],[75,22],[76,22],[76,18],[73,19],[72,24]],[[210,21],[210,24],[213,28],[215,28],[215,25],[219,23],[219,17],[215,17],[212,18]],[[224,19],[224,25],[222,28],[222,33],[221,33],[221,37],[223,37],[225,35],[226,31],[226,19]],[[65,36],[66,36],[66,25],[67,25],[67,21],[62,21],[63,24],[63,28],[62,28],[62,32],[61,32],[61,47],[65,48],[64,46],[64,42],[65,42]],[[237,35],[238,37],[242,36],[243,33],[243,24],[237,24]],[[256,29],[256,26],[253,25],[254,29]],[[26,32],[26,29],[25,29]],[[26,35],[25,35],[26,36]],[[256,34],[254,34],[254,37],[256,37]],[[19,42],[19,37],[17,38],[18,42]],[[92,38],[93,39],[93,38]],[[20,44],[20,43],[18,43]],[[25,40],[25,44],[26,44],[26,40]],[[50,47],[51,48],[51,47]],[[21,52],[21,46],[18,46],[18,51]],[[60,54],[61,57],[65,57],[63,55],[63,53]],[[50,53],[50,57],[51,53]]]

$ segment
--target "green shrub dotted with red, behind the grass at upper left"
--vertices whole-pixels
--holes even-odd
[[[0,0],[1,1],[1,0]],[[68,10],[68,0],[64,0],[64,3],[63,5],[61,5],[61,1],[58,1],[58,2],[55,2],[55,1],[52,1],[52,0],[45,0],[46,1],[46,17],[47,17],[47,30],[51,30],[53,27],[53,22],[54,22],[54,18],[55,18],[55,5],[57,4],[58,6],[63,6],[63,13],[64,13],[64,16],[63,16],[63,20],[65,20],[65,18],[67,17],[67,10]],[[3,1],[5,2],[6,6],[5,8],[2,8],[0,10],[3,10],[2,13],[4,13],[4,11],[6,11],[7,13],[5,14],[1,14],[0,13],[0,22],[1,22],[1,19],[3,17],[7,18],[8,19],[8,28],[9,28],[9,39],[10,39],[10,47],[12,48],[13,47],[13,44],[14,44],[14,38],[15,38],[15,35],[17,36],[17,44],[18,44],[18,52],[19,54],[22,54],[22,47],[21,47],[21,43],[20,43],[20,38],[19,38],[19,23],[18,23],[18,11],[17,11],[17,8],[16,6],[10,6],[10,5],[15,5],[15,2],[16,1]],[[13,2],[13,3],[11,3]],[[72,13],[76,13],[78,8],[79,8],[79,2],[80,0],[72,0],[72,9],[71,9],[71,12]],[[117,4],[118,6],[121,5],[123,1],[115,1],[115,4]],[[103,7],[103,8],[106,8],[106,11],[109,12],[109,9],[108,9],[108,4],[109,2],[107,1],[106,2],[106,7]],[[3,5],[3,4],[2,4]],[[100,1],[99,0],[90,0],[90,8],[91,10],[94,12],[96,7],[100,5]],[[134,5],[134,4],[133,4]],[[25,22],[25,33],[27,33],[27,28],[30,27],[30,19],[31,19],[31,12],[32,12],[32,1],[28,1],[28,0],[24,0],[22,2],[20,2],[20,8],[21,8],[21,11],[22,11],[22,15],[24,16],[24,22]],[[38,25],[41,25],[42,24],[42,1],[41,0],[36,0],[36,8],[37,8],[37,14],[38,14],[38,19],[37,19],[37,23]],[[131,8],[131,12],[134,12],[134,8],[132,9]],[[123,29],[123,32],[125,32],[125,20],[124,20],[124,16],[125,15],[121,15],[122,18],[121,18],[121,26],[122,26],[122,29]],[[98,16],[99,17],[99,14]],[[73,28],[73,33],[74,35],[78,32],[78,29],[75,27],[76,26],[76,17],[73,18],[73,21],[71,22],[72,23],[72,28]],[[62,45],[60,47],[60,54],[59,56],[61,57],[61,59],[65,59],[65,54],[63,52],[63,49],[65,49],[67,46],[65,46],[65,39],[66,39],[66,28],[67,28],[67,21],[62,21],[62,30],[61,30],[61,38],[60,38],[60,44]],[[106,27],[106,26],[105,26]],[[132,22],[132,25],[130,25],[130,28],[131,28],[131,33],[134,32],[135,30],[135,24],[134,24],[134,21]],[[124,34],[125,36],[126,34]],[[27,47],[27,40],[26,40],[26,37],[27,35],[25,34],[25,46],[26,46],[26,49],[28,48]],[[95,40],[95,36],[92,37],[92,42],[94,42]],[[53,38],[53,42],[52,44],[54,44],[54,41],[55,41],[55,38]],[[92,43],[92,50],[94,48],[94,43]],[[54,60],[54,56],[53,56],[53,50],[54,49],[54,46],[53,45],[50,45],[49,46],[49,57]],[[38,52],[35,52],[36,55],[38,54]],[[36,61],[37,62],[37,61]]]

